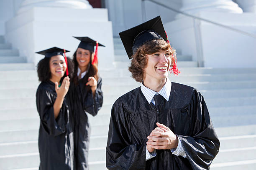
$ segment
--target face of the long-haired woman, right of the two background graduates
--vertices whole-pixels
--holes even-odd
[[[91,60],[90,50],[84,50],[83,48],[77,48],[77,63],[79,67],[87,67]]]

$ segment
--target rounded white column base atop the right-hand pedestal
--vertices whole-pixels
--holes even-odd
[[[182,0],[180,9],[189,14],[199,12],[243,13],[243,10],[232,0]]]

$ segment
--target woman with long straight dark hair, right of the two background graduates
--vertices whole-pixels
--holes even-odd
[[[90,124],[87,113],[95,116],[102,107],[102,80],[97,70],[97,48],[104,46],[89,37],[75,37],[81,42],[73,55],[77,92],[75,114],[75,160],[77,170],[88,170]],[[94,47],[96,50],[94,52]]]

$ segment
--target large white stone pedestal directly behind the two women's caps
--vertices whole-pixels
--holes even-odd
[[[90,16],[90,17],[87,17]],[[63,47],[72,57],[79,41],[72,36],[89,36],[106,47],[99,47],[99,67],[111,67],[114,60],[112,25],[106,9],[33,7],[6,23],[5,39],[35,65],[42,55],[35,52]]]

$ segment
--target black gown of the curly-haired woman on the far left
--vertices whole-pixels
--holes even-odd
[[[40,116],[39,170],[73,170],[74,166],[72,85],[69,86],[59,116],[55,120],[53,105],[56,97],[53,82],[40,83],[36,91],[36,106]]]

